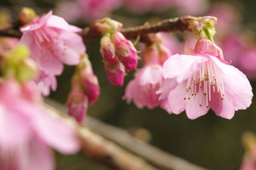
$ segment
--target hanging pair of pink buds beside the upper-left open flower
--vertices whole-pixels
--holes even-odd
[[[68,96],[68,113],[78,122],[83,122],[88,104],[93,104],[99,97],[100,87],[97,76],[93,73],[88,55],[83,55],[72,77],[72,90]]]

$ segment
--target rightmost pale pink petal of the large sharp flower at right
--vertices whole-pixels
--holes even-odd
[[[230,66],[220,62],[216,57],[211,59],[220,67],[223,82],[225,97],[227,96],[234,106],[235,110],[244,110],[252,103],[252,86],[246,75],[234,66]]]

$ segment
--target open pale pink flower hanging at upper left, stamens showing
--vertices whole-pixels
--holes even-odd
[[[53,81],[52,76],[62,73],[63,63],[76,65],[85,52],[83,39],[76,34],[81,29],[69,25],[61,17],[52,15],[52,11],[40,18],[35,18],[20,30],[23,32],[20,43],[29,46],[31,57],[44,72],[42,73],[44,74],[43,79],[38,78],[38,82],[44,81],[45,75],[51,77],[51,81]],[[47,91],[45,89],[49,89],[47,85],[52,85],[52,89],[56,89],[56,85],[53,84],[41,83],[46,86],[40,86],[42,87],[40,91],[44,91],[44,95],[49,94],[49,92],[45,92]]]

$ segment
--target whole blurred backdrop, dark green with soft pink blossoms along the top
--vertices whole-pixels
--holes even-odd
[[[124,27],[154,23],[165,18],[181,15],[218,17],[216,25],[216,44],[223,48],[226,60],[246,73],[255,94],[256,87],[256,13],[255,0],[210,1],[210,0],[1,0],[0,7],[10,10],[13,21],[22,6],[29,6],[38,15],[53,10],[54,14],[64,17],[70,24],[85,27],[96,18],[109,16],[124,24]],[[195,36],[189,32],[174,32],[164,36],[166,46],[173,53],[182,53],[184,43],[193,47]],[[132,40],[134,41],[134,40]],[[124,87],[115,87],[108,82],[99,41],[88,41],[86,52],[90,56],[93,71],[99,78],[100,97],[90,106],[88,115],[107,124],[122,127],[138,134],[165,152],[189,160],[209,169],[239,169],[244,149],[241,136],[245,131],[256,133],[256,104],[247,110],[236,111],[232,120],[217,117],[212,110],[207,115],[189,120],[185,113],[169,115],[156,108],[139,110],[131,103],[122,100],[125,86],[133,78],[134,71],[125,77]],[[140,45],[139,45],[140,46]],[[141,53],[139,53],[141,55]],[[58,89],[51,96],[65,103],[70,91],[70,77],[74,67],[66,66],[58,76]],[[141,132],[141,131],[140,131]],[[150,134],[150,136],[148,136]],[[144,136],[143,136],[144,135]],[[147,138],[145,138],[145,136]],[[108,167],[86,160],[81,153],[65,156],[56,153],[57,169],[108,169]]]

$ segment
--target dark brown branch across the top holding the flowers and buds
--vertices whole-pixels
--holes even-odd
[[[168,19],[163,20],[161,22],[157,22],[156,24],[152,25],[141,25],[138,27],[129,27],[122,29],[122,34],[127,39],[136,38],[138,34],[141,35],[142,39],[141,41],[147,41],[147,39],[143,39],[143,35],[149,34],[149,33],[156,33],[156,32],[174,32],[174,31],[191,31],[190,24],[191,21],[195,20],[195,17],[191,16],[184,16],[174,19]],[[84,41],[88,40],[95,40],[100,39],[102,35],[100,34],[97,29],[93,29],[92,27],[86,27],[83,31],[78,33]],[[0,30],[0,36],[10,36],[10,37],[16,37],[20,38],[22,36],[22,32],[20,32],[17,29],[4,29]]]

